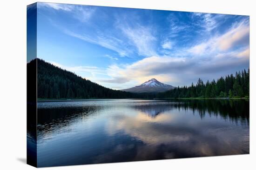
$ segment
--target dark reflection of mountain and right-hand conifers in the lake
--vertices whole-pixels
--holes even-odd
[[[224,120],[238,123],[249,123],[249,101],[246,100],[175,100],[156,102],[153,104],[135,105],[133,108],[155,118],[157,115],[178,109],[178,111],[192,110],[198,113],[201,119],[206,114],[209,116],[221,116]]]

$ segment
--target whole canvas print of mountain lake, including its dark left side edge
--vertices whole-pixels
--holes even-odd
[[[27,6],[28,164],[239,154],[249,154],[249,16]]]

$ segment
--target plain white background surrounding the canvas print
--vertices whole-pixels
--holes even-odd
[[[34,169],[26,164],[26,6],[34,0],[2,0],[0,4],[0,169]],[[121,6],[189,12],[250,15],[250,154],[183,158],[115,164],[45,168],[63,170],[251,170],[256,168],[254,0],[51,0],[72,4]],[[253,77],[254,76],[254,77]]]

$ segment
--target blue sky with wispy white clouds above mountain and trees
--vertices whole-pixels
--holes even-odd
[[[249,16],[37,3],[37,57],[113,89],[249,68]]]

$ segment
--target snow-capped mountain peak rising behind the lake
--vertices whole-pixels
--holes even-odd
[[[142,83],[140,86],[135,86],[133,88],[122,89],[121,91],[132,92],[132,93],[158,93],[164,92],[170,89],[174,89],[174,86],[164,84],[157,81],[155,78]]]

